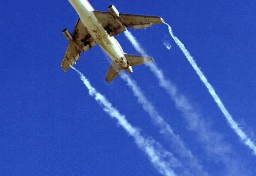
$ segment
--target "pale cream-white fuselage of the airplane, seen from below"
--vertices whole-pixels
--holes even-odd
[[[98,45],[121,67],[125,68],[128,72],[132,72],[121,46],[113,36],[111,37],[107,33],[104,26],[98,21],[93,12],[94,8],[88,0],[69,0],[69,2],[77,11],[83,25],[86,26],[88,32]]]

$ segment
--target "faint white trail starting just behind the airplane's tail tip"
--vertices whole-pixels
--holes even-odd
[[[133,91],[133,95],[137,97],[138,102],[142,105],[143,109],[150,115],[155,125],[160,127],[160,132],[171,139],[172,145],[175,146],[176,152],[182,158],[184,158],[184,160],[186,161],[186,165],[188,165],[190,170],[193,171],[196,176],[209,176],[208,173],[203,171],[203,166],[198,163],[197,158],[192,154],[192,152],[186,148],[184,142],[180,139],[180,137],[173,132],[171,126],[166,123],[164,119],[159,115],[158,111],[146,98],[141,89],[138,87],[137,83],[125,73],[122,73],[121,77],[127,82],[128,86]]]

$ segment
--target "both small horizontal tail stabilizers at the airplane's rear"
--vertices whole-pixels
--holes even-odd
[[[154,62],[153,58],[149,56],[125,54],[125,58],[130,66]],[[115,61],[112,61],[105,78],[106,81],[110,83],[123,70],[124,68],[120,67]]]

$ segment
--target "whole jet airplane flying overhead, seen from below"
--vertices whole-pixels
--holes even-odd
[[[109,12],[102,12],[94,10],[88,0],[69,2],[80,18],[72,34],[67,28],[62,31],[70,41],[61,64],[65,72],[76,63],[82,51],[91,49],[96,43],[112,58],[105,77],[108,83],[123,70],[132,73],[132,66],[154,62],[152,57],[125,53],[114,36],[126,31],[127,27],[138,29],[164,23],[161,17],[119,13],[113,4],[108,6]]]

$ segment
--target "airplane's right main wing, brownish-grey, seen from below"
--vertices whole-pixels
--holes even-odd
[[[120,13],[119,16],[123,20],[124,24],[121,25],[114,19],[114,16],[110,12],[94,11],[96,17],[103,25],[103,27],[111,29],[110,35],[114,36],[126,31],[126,27],[133,27],[134,29],[150,27],[153,24],[164,23],[159,16],[149,15],[133,15]]]

